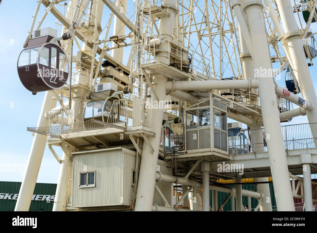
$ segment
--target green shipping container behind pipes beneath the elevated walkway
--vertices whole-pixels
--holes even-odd
[[[226,185],[228,187],[235,187],[235,185]],[[273,184],[269,184],[270,186],[270,193],[271,193],[271,202],[272,202],[272,209],[273,211],[276,211],[276,200],[275,200],[275,194],[274,194],[274,189],[273,189]],[[250,191],[257,191],[256,190],[256,185],[255,184],[242,184],[242,189],[245,190],[250,190]],[[217,197],[218,197],[218,207],[223,203],[223,201],[226,199],[228,196],[228,193],[224,192],[217,192]],[[263,200],[265,201],[265,200]],[[242,197],[242,203],[243,206],[248,205],[248,197]],[[251,197],[251,206],[249,206],[249,209],[254,209],[256,208],[258,204],[258,200],[254,197]],[[212,206],[212,191],[210,191],[210,206]],[[235,204],[235,209],[236,209],[236,204]],[[232,211],[231,208],[231,197],[227,201],[227,203],[223,206],[223,211]],[[253,210],[252,210],[253,211]]]

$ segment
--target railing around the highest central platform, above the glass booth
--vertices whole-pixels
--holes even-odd
[[[168,57],[167,65],[174,66],[202,80],[211,78],[208,58],[162,35],[143,37],[141,64],[152,63],[156,61],[157,56]]]

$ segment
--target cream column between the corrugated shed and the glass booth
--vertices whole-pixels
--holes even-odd
[[[159,33],[163,36],[166,36],[168,39],[173,39],[174,31],[174,21],[178,15],[178,1],[177,0],[163,0],[162,5],[164,5],[166,10],[171,14],[171,16],[162,16],[159,20]],[[155,61],[162,61],[168,63],[169,65],[169,51],[170,48],[167,46],[168,41],[160,43],[157,45],[158,51],[166,52],[157,52],[155,56]],[[164,75],[155,75],[153,82],[156,82],[155,92],[159,100],[165,100],[166,88],[165,83],[167,77]],[[151,95],[153,90],[151,90]],[[163,121],[164,109],[152,109],[152,122],[155,122],[152,126],[152,132],[156,136],[149,136],[149,142],[152,145],[154,152],[150,146],[145,144],[142,150],[142,159],[140,164],[139,172],[139,182],[138,190],[135,201],[135,211],[151,211],[154,195],[154,186],[155,186],[155,177],[156,177],[156,166],[159,156],[159,144],[160,136],[162,130],[162,121]]]

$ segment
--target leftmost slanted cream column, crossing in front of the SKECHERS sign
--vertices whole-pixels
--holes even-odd
[[[48,119],[45,118],[45,113],[48,110],[56,107],[56,100],[53,100],[53,92],[47,91],[42,104],[41,113],[37,122],[37,127],[47,126]],[[23,176],[19,196],[16,201],[14,211],[29,211],[33,191],[36,184],[36,179],[40,170],[43,153],[47,141],[47,136],[36,133],[32,142],[29,153],[28,163],[26,165]]]

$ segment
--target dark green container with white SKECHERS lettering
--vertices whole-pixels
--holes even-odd
[[[36,183],[29,211],[52,211],[57,184]],[[21,182],[0,181],[0,211],[14,211]]]

